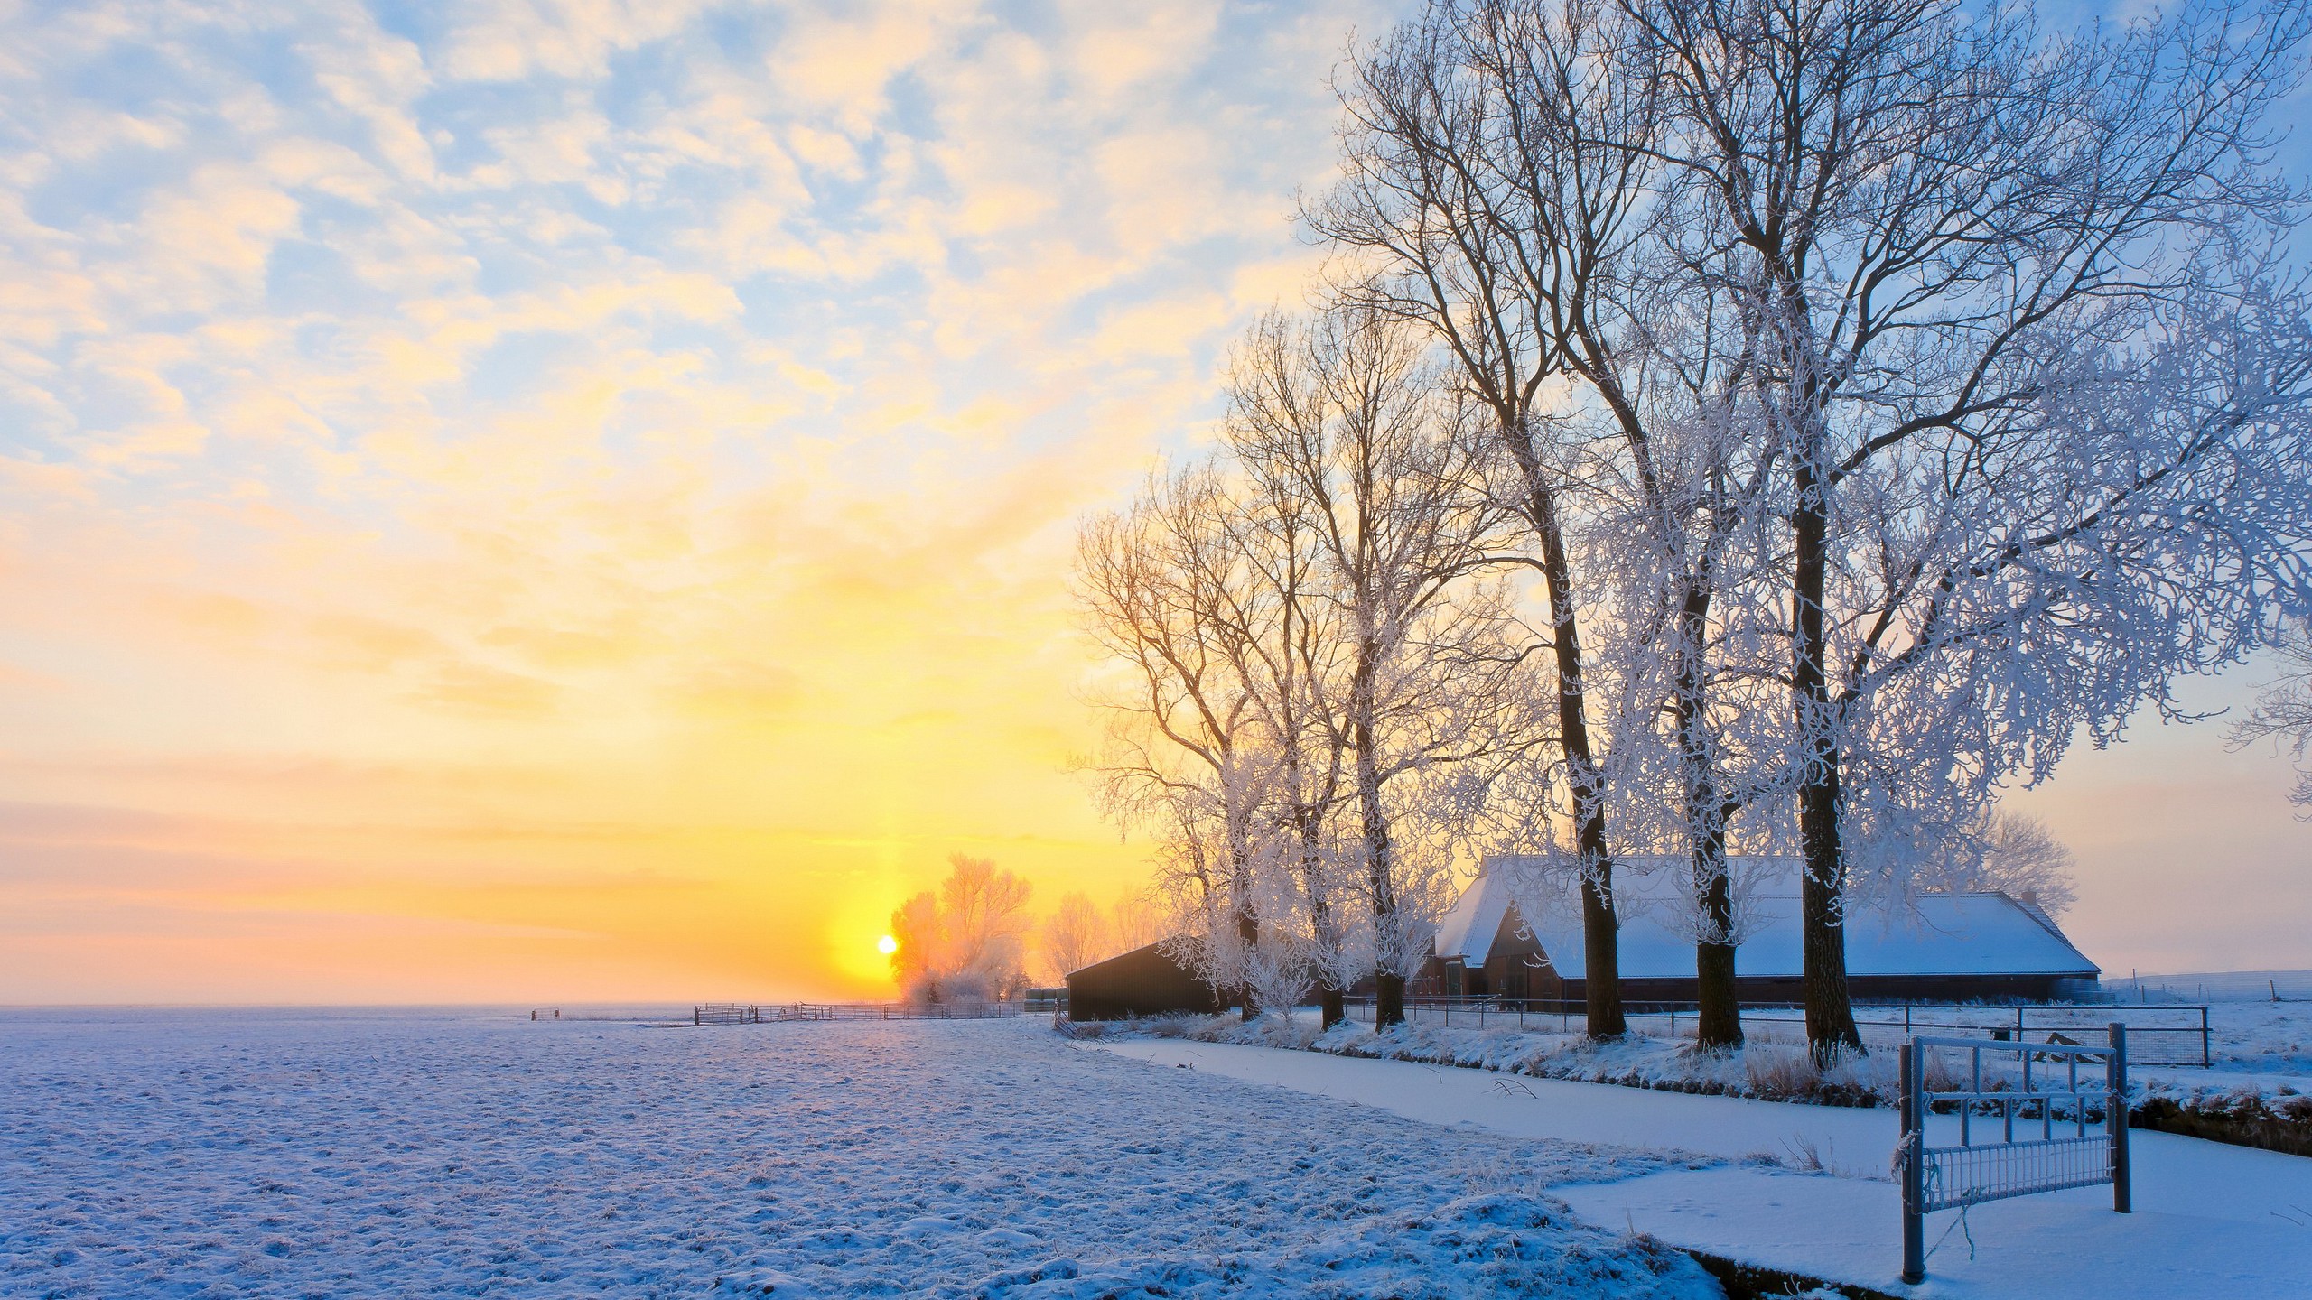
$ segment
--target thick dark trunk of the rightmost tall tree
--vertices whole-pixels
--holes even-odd
[[[1820,435],[1813,442],[1820,446]],[[1806,1041],[1815,1064],[1831,1066],[1847,1052],[1861,1055],[1863,1039],[1854,1027],[1854,1004],[1847,999],[1843,907],[1847,874],[1838,842],[1838,733],[1824,673],[1826,638],[1822,625],[1829,502],[1817,456],[1799,458],[1794,486],[1792,622],[1799,636],[1792,655],[1792,696],[1801,745],[1806,745],[1806,770],[1799,782],[1799,844],[1806,858],[1806,879],[1799,886]]]

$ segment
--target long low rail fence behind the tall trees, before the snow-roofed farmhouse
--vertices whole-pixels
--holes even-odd
[[[1350,1020],[1373,1022],[1371,997],[1348,997],[1343,1006]],[[1623,1015],[1632,1029],[1655,1032],[1665,1039],[1692,1036],[1699,1020],[1699,1004],[1625,1002]],[[1408,997],[1406,1020],[1422,1025],[1468,1025],[1470,1029],[1558,1029],[1563,1034],[1588,1027],[1584,1002],[1542,997]],[[1854,1006],[1854,1027],[1861,1032],[1863,1043],[1873,1048],[1900,1046],[1919,1032],[1986,1034],[2014,1041],[2023,1041],[2028,1034],[2039,1039],[2048,1039],[2051,1034],[2099,1034],[2113,1020],[2127,1025],[2136,1064],[2208,1066],[2213,1059],[2213,1029],[2206,1004],[2106,1006],[2058,1002],[1988,1006],[1961,1002],[1882,1002]],[[1741,1022],[1746,1029],[1792,1027],[1803,1034],[1806,1011],[1787,1002],[1746,1002]]]

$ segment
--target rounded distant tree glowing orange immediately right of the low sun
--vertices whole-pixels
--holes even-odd
[[[987,858],[955,854],[939,893],[890,914],[892,976],[909,1002],[1003,997],[1027,981],[1029,884]]]

